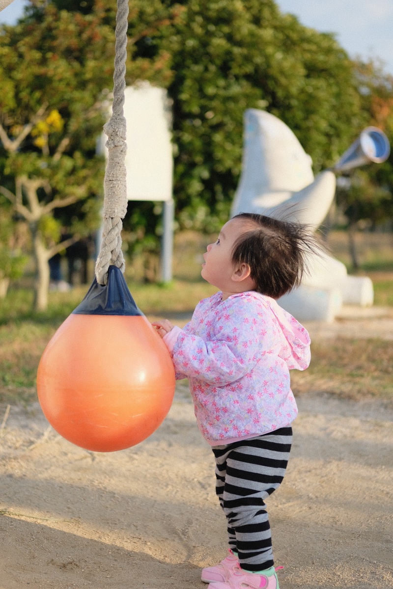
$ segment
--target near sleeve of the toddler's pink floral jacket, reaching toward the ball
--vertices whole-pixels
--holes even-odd
[[[241,301],[240,301],[241,302]],[[224,386],[252,371],[263,355],[261,320],[239,303],[209,326],[209,340],[174,327],[164,337],[177,374]]]

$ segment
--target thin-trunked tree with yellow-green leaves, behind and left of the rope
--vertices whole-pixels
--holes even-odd
[[[176,19],[176,10],[164,18],[159,2],[153,7],[131,7],[129,84],[168,77],[164,51],[133,58],[138,39]],[[0,190],[31,231],[37,310],[47,306],[48,260],[99,223],[104,162],[95,142],[110,107],[114,15],[114,1],[97,0],[86,15],[35,1],[0,35]]]

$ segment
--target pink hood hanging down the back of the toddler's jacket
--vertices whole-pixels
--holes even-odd
[[[311,359],[310,336],[295,317],[279,306],[275,299],[265,294],[255,293],[258,298],[263,299],[265,305],[270,308],[278,322],[283,335],[283,346],[279,353],[280,358],[285,360],[289,369],[296,368],[305,370],[308,368]]]

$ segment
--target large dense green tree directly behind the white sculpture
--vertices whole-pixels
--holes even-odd
[[[157,50],[172,52],[180,219],[192,222],[203,206],[227,214],[240,174],[246,108],[266,108],[285,121],[316,172],[331,165],[363,123],[352,62],[335,38],[280,14],[272,0],[183,5],[171,34],[153,39]],[[146,42],[138,44],[141,55]]]

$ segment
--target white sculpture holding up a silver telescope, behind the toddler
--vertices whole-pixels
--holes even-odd
[[[389,141],[381,130],[367,127],[332,170],[314,178],[311,157],[295,134],[269,112],[250,108],[244,115],[242,174],[232,206],[238,213],[259,213],[318,229],[331,207],[335,173],[389,156]],[[372,305],[371,279],[348,276],[344,264],[328,254],[309,256],[309,273],[279,305],[300,320],[332,321],[343,304]]]

